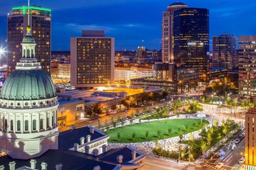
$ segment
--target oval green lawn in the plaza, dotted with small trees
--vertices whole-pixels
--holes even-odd
[[[195,123],[195,127],[193,124]],[[204,124],[209,124],[207,120],[204,120]],[[188,126],[188,130],[186,131],[185,126]],[[172,128],[172,132],[170,136],[168,135],[168,129]],[[180,132],[178,131],[180,128]],[[153,141],[157,139],[158,131],[161,131],[161,135],[159,139],[163,139],[164,135],[165,138],[179,136],[181,134],[186,134],[193,132],[194,130],[197,131],[201,129],[201,119],[172,119],[172,120],[158,120],[153,122],[146,122],[134,125],[128,125],[116,129],[112,129],[106,131],[104,133],[110,136],[109,142],[114,143],[131,143],[131,142],[143,142],[143,141]],[[148,138],[145,138],[145,131],[148,130]],[[117,138],[117,133],[120,133],[120,142]],[[135,141],[133,141],[133,132],[135,132],[136,137]]]

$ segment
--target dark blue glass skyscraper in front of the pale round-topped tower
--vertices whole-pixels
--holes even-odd
[[[206,80],[209,52],[209,10],[182,8],[174,11],[174,62],[181,67],[199,68]]]

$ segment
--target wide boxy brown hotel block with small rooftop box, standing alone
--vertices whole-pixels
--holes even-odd
[[[115,38],[105,37],[104,31],[82,31],[82,37],[71,37],[70,56],[72,86],[114,84]]]

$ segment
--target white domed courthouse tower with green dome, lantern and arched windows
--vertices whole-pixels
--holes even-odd
[[[0,151],[30,159],[58,149],[57,94],[35,56],[31,28],[23,39],[23,57],[0,94]]]

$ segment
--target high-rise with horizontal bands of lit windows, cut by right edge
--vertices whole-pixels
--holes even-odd
[[[256,36],[239,37],[239,95],[256,101]]]

